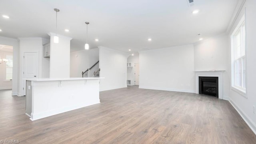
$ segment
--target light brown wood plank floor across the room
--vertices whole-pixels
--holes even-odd
[[[256,144],[226,100],[129,86],[100,92],[100,104],[36,121],[25,97],[0,90],[0,140],[21,144]]]

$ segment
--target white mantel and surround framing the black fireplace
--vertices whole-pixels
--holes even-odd
[[[223,99],[222,74],[225,70],[194,71],[196,73],[196,94],[199,94],[199,76],[218,77],[219,98]]]

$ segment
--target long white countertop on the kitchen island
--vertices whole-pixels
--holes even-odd
[[[93,80],[93,79],[102,79],[102,78],[24,78],[23,80],[30,80],[30,81],[55,81],[55,80]]]

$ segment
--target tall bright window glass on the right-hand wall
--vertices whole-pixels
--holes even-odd
[[[232,33],[232,87],[246,93],[246,29],[244,17]]]

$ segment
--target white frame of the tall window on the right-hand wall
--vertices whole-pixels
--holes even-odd
[[[244,96],[247,98],[247,95],[246,95],[246,88],[242,88],[241,86],[236,86],[236,65],[235,65],[235,60],[238,60],[238,59],[235,59],[235,35],[237,34],[238,31],[240,31],[241,27],[242,26],[245,26],[245,36],[244,36],[244,49],[245,49],[245,55],[242,56],[241,58],[245,58],[245,77],[244,77],[244,80],[245,80],[245,86],[247,86],[246,82],[247,82],[247,66],[246,66],[246,19],[245,19],[245,14],[242,16],[242,18],[240,19],[240,21],[238,22],[236,28],[233,30],[231,36],[230,36],[230,39],[231,39],[231,82],[232,82],[232,85],[231,85],[231,89],[234,90],[235,92],[237,92],[238,94]],[[243,65],[242,65],[243,67]]]

